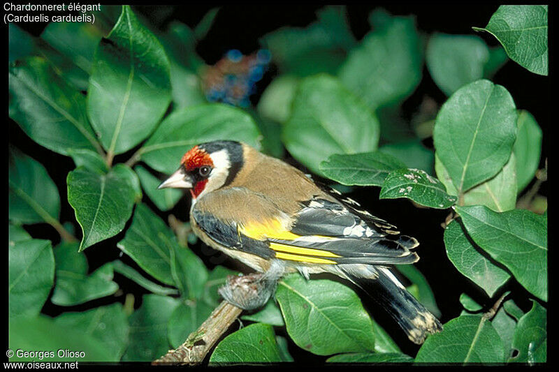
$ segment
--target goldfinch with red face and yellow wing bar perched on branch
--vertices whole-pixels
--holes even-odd
[[[159,188],[189,189],[194,233],[263,274],[259,295],[248,302],[221,288],[227,302],[259,308],[286,274],[309,280],[331,273],[375,299],[412,342],[442,330],[391,271],[419,260],[412,252],[419,242],[310,174],[243,142],[216,140],[189,149]]]

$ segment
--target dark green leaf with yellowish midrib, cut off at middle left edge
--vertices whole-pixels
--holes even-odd
[[[8,210],[15,223],[57,223],[58,189],[47,170],[15,147],[9,147]]]

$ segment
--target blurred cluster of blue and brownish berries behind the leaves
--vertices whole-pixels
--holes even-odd
[[[248,56],[239,50],[229,50],[214,66],[208,66],[202,75],[206,98],[210,102],[248,107],[249,96],[256,91],[270,63],[270,52],[261,49]]]

